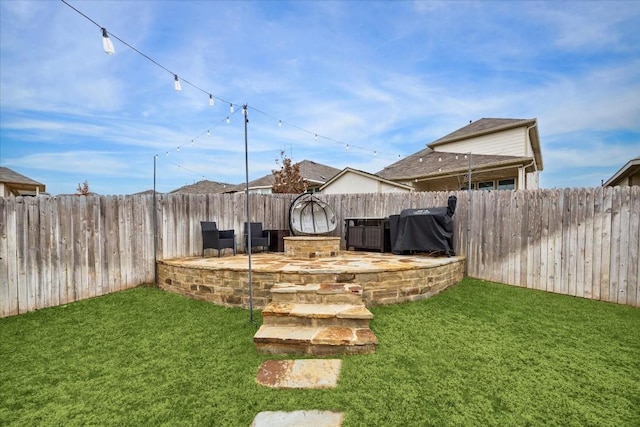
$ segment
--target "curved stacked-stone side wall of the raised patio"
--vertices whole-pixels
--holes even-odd
[[[464,277],[464,258],[451,258],[437,266],[418,269],[364,272],[319,273],[253,271],[253,307],[264,308],[276,283],[354,283],[363,288],[367,306],[416,301],[435,295]],[[161,289],[228,307],[249,308],[247,270],[210,269],[158,262]]]

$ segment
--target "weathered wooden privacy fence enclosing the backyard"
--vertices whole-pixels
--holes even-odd
[[[640,306],[640,187],[318,195],[338,218],[385,217],[458,197],[455,248],[468,275]],[[288,228],[295,195],[249,196],[251,221]],[[244,194],[0,198],[0,316],[154,281],[154,260],[199,256],[200,221],[234,229]],[[154,230],[157,251],[154,254]],[[467,240],[467,236],[469,240]],[[344,244],[344,243],[343,243]]]

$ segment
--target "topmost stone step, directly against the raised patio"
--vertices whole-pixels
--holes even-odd
[[[276,283],[271,287],[273,302],[317,304],[362,304],[362,286],[349,283]]]

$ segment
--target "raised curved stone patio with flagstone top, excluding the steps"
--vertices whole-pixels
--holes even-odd
[[[253,307],[264,308],[276,283],[353,283],[362,286],[367,306],[428,298],[464,277],[465,258],[427,254],[393,255],[340,251],[335,256],[299,259],[281,252],[251,256]],[[232,307],[249,307],[249,257],[188,257],[158,261],[160,288]]]

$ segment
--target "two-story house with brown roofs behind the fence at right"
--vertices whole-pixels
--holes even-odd
[[[536,119],[487,119],[456,130],[376,175],[416,191],[537,189],[543,169]]]

